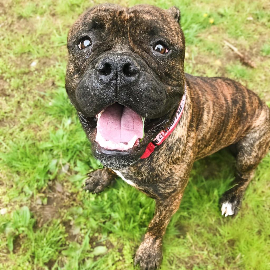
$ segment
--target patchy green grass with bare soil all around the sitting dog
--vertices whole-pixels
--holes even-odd
[[[180,8],[186,72],[236,79],[270,105],[268,1],[148,3]],[[0,269],[133,269],[153,215],[154,201],[120,179],[101,194],[82,190],[100,164],[65,93],[65,44],[69,27],[94,4],[0,4]],[[223,40],[257,68],[242,65]],[[270,155],[238,216],[225,219],[218,200],[233,166],[224,150],[194,164],[164,237],[162,269],[270,269]]]

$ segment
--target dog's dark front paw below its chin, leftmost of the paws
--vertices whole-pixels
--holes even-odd
[[[93,194],[100,193],[106,188],[114,179],[114,175],[106,169],[99,169],[87,174],[88,178],[85,181],[83,189],[89,190]]]

